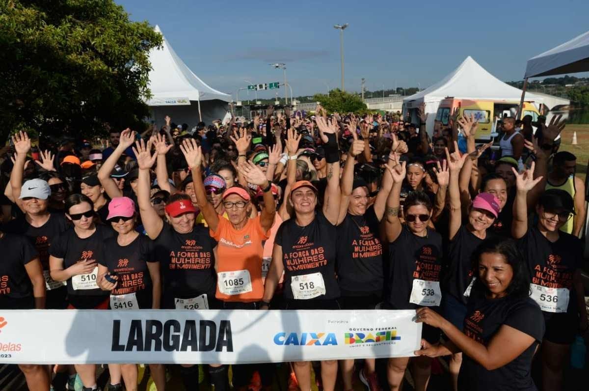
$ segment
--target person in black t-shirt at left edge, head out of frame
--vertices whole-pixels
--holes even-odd
[[[45,308],[43,268],[31,242],[25,236],[0,231],[0,254],[0,310]],[[49,372],[45,366],[19,364],[18,367],[27,379],[29,390],[49,389]]]

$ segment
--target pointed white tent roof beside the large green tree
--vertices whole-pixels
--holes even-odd
[[[231,101],[229,94],[209,87],[184,64],[159,26],[155,26],[155,31],[162,34],[164,41],[160,50],[154,49],[149,55],[153,68],[149,73],[149,88],[152,94],[152,98],[147,101],[149,106],[190,104],[187,102],[189,100]]]

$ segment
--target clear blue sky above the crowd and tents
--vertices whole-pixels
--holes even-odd
[[[248,84],[282,83],[282,70],[268,65],[276,62],[286,63],[294,96],[339,87],[334,24],[349,23],[345,88],[360,91],[362,78],[367,90],[423,89],[468,55],[500,80],[521,80],[529,58],[587,31],[589,16],[587,0],[115,1],[131,20],[159,25],[201,80],[233,96]]]

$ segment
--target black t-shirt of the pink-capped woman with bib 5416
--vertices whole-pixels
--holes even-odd
[[[98,263],[118,276],[117,287],[111,291],[111,295],[137,293],[139,307],[145,308],[152,294],[147,262],[157,261],[154,258],[153,241],[147,236],[138,235],[130,244],[121,246],[113,236],[104,243],[108,251]]]

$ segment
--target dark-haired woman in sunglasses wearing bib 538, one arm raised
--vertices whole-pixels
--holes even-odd
[[[392,163],[397,163],[393,160]],[[418,305],[428,305],[439,310],[442,292],[440,278],[442,271],[442,236],[428,228],[432,216],[429,196],[415,191],[405,199],[404,216],[406,225],[399,220],[399,195],[405,178],[405,162],[396,166],[385,165],[393,178],[393,188],[386,201],[386,237],[389,241],[389,262],[387,294],[384,307],[390,310],[412,310]],[[435,343],[439,330],[423,327],[422,337]],[[409,357],[389,359],[387,377],[392,390],[398,390]],[[415,389],[424,390],[431,372],[431,359],[418,357],[414,361],[413,380]]]

